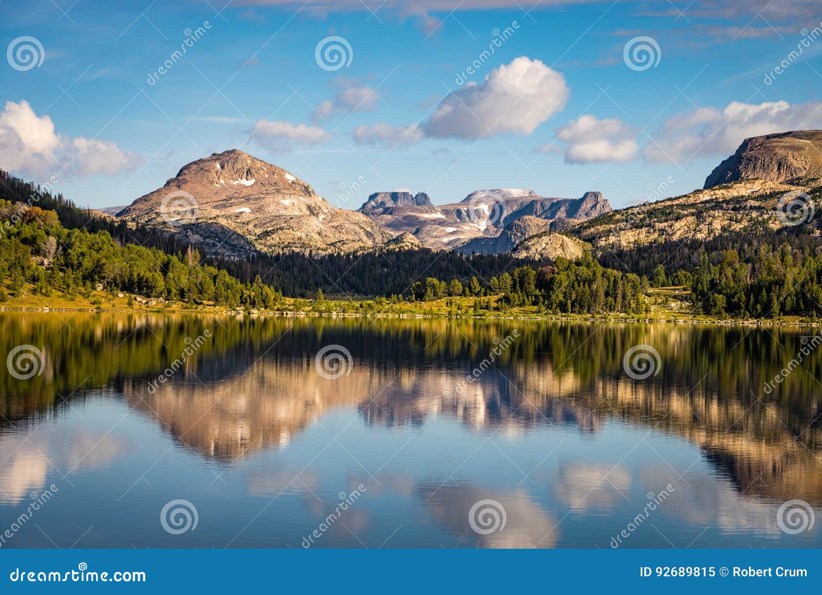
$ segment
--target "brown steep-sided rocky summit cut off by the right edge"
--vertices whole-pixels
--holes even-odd
[[[740,180],[786,182],[822,175],[822,130],[797,130],[746,138],[737,152],[705,179],[704,188]]]

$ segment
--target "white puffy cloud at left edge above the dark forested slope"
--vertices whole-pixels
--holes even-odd
[[[7,101],[0,114],[0,164],[5,170],[33,176],[64,169],[72,175],[113,175],[141,162],[115,142],[59,135],[52,119],[35,114],[25,100]]]

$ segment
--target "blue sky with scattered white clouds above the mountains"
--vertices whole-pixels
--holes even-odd
[[[0,4],[0,167],[93,207],[234,147],[340,207],[399,188],[622,207],[700,188],[746,136],[822,128],[811,0],[55,2]],[[347,66],[317,62],[330,36]]]

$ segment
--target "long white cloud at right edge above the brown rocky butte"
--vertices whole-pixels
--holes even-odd
[[[728,156],[748,137],[807,128],[822,128],[822,104],[733,101],[722,110],[700,108],[675,115],[654,135],[644,156],[679,164],[700,156]]]

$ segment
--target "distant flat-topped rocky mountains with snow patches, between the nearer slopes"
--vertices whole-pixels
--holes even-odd
[[[437,207],[367,207],[361,212],[382,230],[413,234],[427,248],[500,253],[524,239],[522,234],[529,228],[533,233],[545,230],[547,224],[565,228],[611,210],[611,205],[598,192],[585,193],[582,198],[547,198],[524,188],[493,188],[475,191],[460,202]],[[536,225],[530,221],[509,227],[525,216],[546,224]]]

